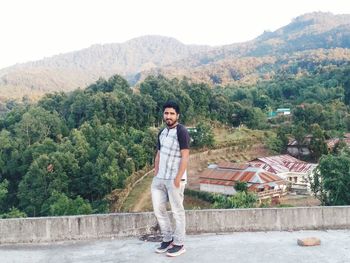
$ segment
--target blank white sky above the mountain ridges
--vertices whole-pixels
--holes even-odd
[[[225,45],[315,11],[350,14],[349,0],[1,0],[0,69],[144,35]]]

